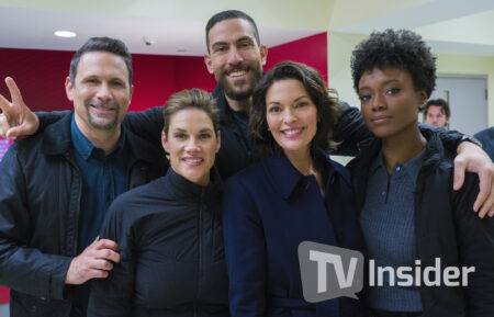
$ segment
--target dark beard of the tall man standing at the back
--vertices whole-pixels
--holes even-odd
[[[234,84],[228,82],[227,72],[231,71],[232,69],[242,69],[247,72],[249,70],[251,70],[252,73],[251,73],[250,78],[249,77],[246,78],[247,88],[245,90],[238,91],[237,89],[235,89]],[[225,94],[229,99],[233,99],[236,101],[242,101],[242,100],[249,99],[252,95],[254,89],[256,88],[256,86],[259,82],[261,77],[262,77],[262,66],[260,65],[260,63],[256,63],[250,66],[239,64],[238,66],[232,67],[225,71],[222,71],[222,73],[217,75],[216,81],[223,88],[223,90],[225,91]]]

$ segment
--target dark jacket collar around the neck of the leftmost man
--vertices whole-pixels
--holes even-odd
[[[71,118],[74,111],[64,115],[59,121],[45,128],[42,151],[46,155],[64,155],[72,148],[71,144]],[[160,157],[160,152],[147,140],[136,136],[122,125],[122,133],[125,134],[125,141],[130,146],[132,155],[147,162],[154,162]]]

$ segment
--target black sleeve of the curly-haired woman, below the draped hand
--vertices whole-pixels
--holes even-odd
[[[452,178],[451,172],[451,188]],[[478,176],[467,173],[461,190],[452,192],[451,205],[454,207],[460,263],[475,270],[468,274],[467,315],[487,317],[494,312],[494,218],[481,219],[472,211],[478,193]]]

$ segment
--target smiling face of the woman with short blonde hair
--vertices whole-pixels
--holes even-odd
[[[204,111],[188,107],[175,113],[168,133],[161,134],[161,143],[178,174],[195,184],[207,185],[220,150],[220,133],[215,134],[213,122]]]

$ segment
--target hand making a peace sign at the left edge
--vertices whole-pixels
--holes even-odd
[[[5,83],[12,102],[0,94],[0,136],[12,139],[34,134],[40,126],[37,116],[25,105],[15,81],[7,77]]]

